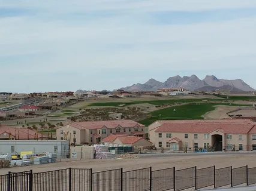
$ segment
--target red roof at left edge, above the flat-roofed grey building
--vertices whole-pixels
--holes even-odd
[[[15,131],[16,130],[16,131]],[[0,134],[3,133],[11,133],[13,137],[16,136],[16,139],[18,138],[19,134],[19,139],[34,139],[35,138],[35,131],[29,130],[27,128],[14,128],[10,127],[8,125],[0,125]],[[38,133],[38,139],[42,137],[41,133]],[[43,138],[46,138],[47,136],[43,135]]]

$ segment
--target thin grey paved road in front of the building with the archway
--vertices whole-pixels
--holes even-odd
[[[198,155],[249,155],[255,154],[256,151],[239,151],[239,152],[210,152],[210,153],[148,153],[140,154],[140,158],[167,157],[167,156],[198,156]]]

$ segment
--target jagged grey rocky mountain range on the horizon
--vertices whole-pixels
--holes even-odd
[[[144,84],[134,84],[129,87],[120,88],[125,91],[156,91],[159,88],[178,88],[182,87],[190,91],[213,91],[227,90],[231,92],[255,91],[242,79],[218,79],[216,76],[207,75],[204,79],[199,79],[196,75],[179,75],[168,78],[165,82],[159,82],[155,79],[149,79]]]

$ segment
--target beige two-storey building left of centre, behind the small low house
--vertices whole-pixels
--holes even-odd
[[[56,137],[58,140],[64,140],[68,135],[67,137],[72,137],[71,143],[98,144],[110,134],[145,137],[144,127],[143,124],[132,120],[71,122],[57,128]]]

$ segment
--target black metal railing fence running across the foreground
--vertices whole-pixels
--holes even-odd
[[[66,168],[33,173],[9,172],[0,175],[1,191],[165,191],[256,184],[256,167],[197,167],[152,171],[152,167],[132,171],[122,168],[92,172],[92,169]]]

